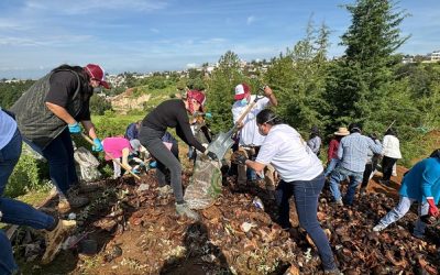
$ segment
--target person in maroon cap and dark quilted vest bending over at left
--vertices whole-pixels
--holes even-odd
[[[80,133],[82,124],[94,140],[94,151],[102,151],[90,119],[90,97],[100,87],[110,88],[101,66],[62,65],[32,85],[11,108],[23,141],[44,156],[52,183],[58,189],[59,211],[88,202],[72,189],[78,185],[70,134]]]

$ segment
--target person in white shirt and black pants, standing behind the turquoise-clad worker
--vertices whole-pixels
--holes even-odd
[[[388,129],[384,136],[383,152],[384,157],[382,158],[382,184],[389,185],[389,178],[392,177],[393,166],[398,158],[402,158],[400,143],[397,139],[397,133],[394,129]]]

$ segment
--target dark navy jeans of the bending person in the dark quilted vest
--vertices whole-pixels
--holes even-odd
[[[56,136],[45,148],[23,139],[33,150],[44,156],[48,162],[48,172],[52,183],[62,195],[78,183],[78,176],[75,169],[74,146],[72,138],[66,128]]]

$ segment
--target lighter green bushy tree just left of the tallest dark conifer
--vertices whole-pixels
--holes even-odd
[[[322,111],[328,109],[323,92],[329,33],[326,24],[316,30],[310,20],[305,38],[275,58],[265,76],[277,95],[277,112],[302,132],[314,124],[322,128],[326,123]]]

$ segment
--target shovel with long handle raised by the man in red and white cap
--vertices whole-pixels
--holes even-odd
[[[263,88],[260,88],[260,91],[262,90]],[[244,120],[248,113],[252,110],[252,108],[254,108],[256,102],[262,98],[263,96],[256,95],[254,101],[252,101],[251,105],[244,110],[244,112],[240,116],[239,120],[231,128],[231,130],[229,130],[227,133],[220,132],[219,135],[216,138],[216,140],[208,145],[206,152],[212,152],[217,155],[219,160],[222,160],[227,151],[234,144],[232,135],[238,131],[238,127],[241,124],[241,122]]]

